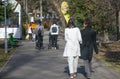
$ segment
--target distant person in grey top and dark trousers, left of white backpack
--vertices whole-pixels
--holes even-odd
[[[43,36],[44,36],[44,26],[41,21],[37,23],[37,27],[35,28],[35,40],[36,40],[36,48],[43,48]]]

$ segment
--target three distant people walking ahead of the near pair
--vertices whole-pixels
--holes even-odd
[[[33,34],[35,35],[35,48],[41,49],[44,48],[43,46],[43,36],[44,36],[44,26],[41,21],[37,21],[36,28],[32,29],[32,23],[30,23],[30,26],[28,28],[28,34],[29,34],[29,40],[33,41]],[[58,49],[57,44],[57,38],[59,35],[59,26],[57,25],[57,22],[54,21],[49,30],[49,47]]]

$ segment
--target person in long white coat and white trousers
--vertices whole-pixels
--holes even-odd
[[[65,28],[65,41],[63,56],[68,59],[68,67],[70,78],[77,75],[77,65],[80,54],[80,43],[82,43],[80,29],[75,27],[72,19],[69,20],[67,28]]]

